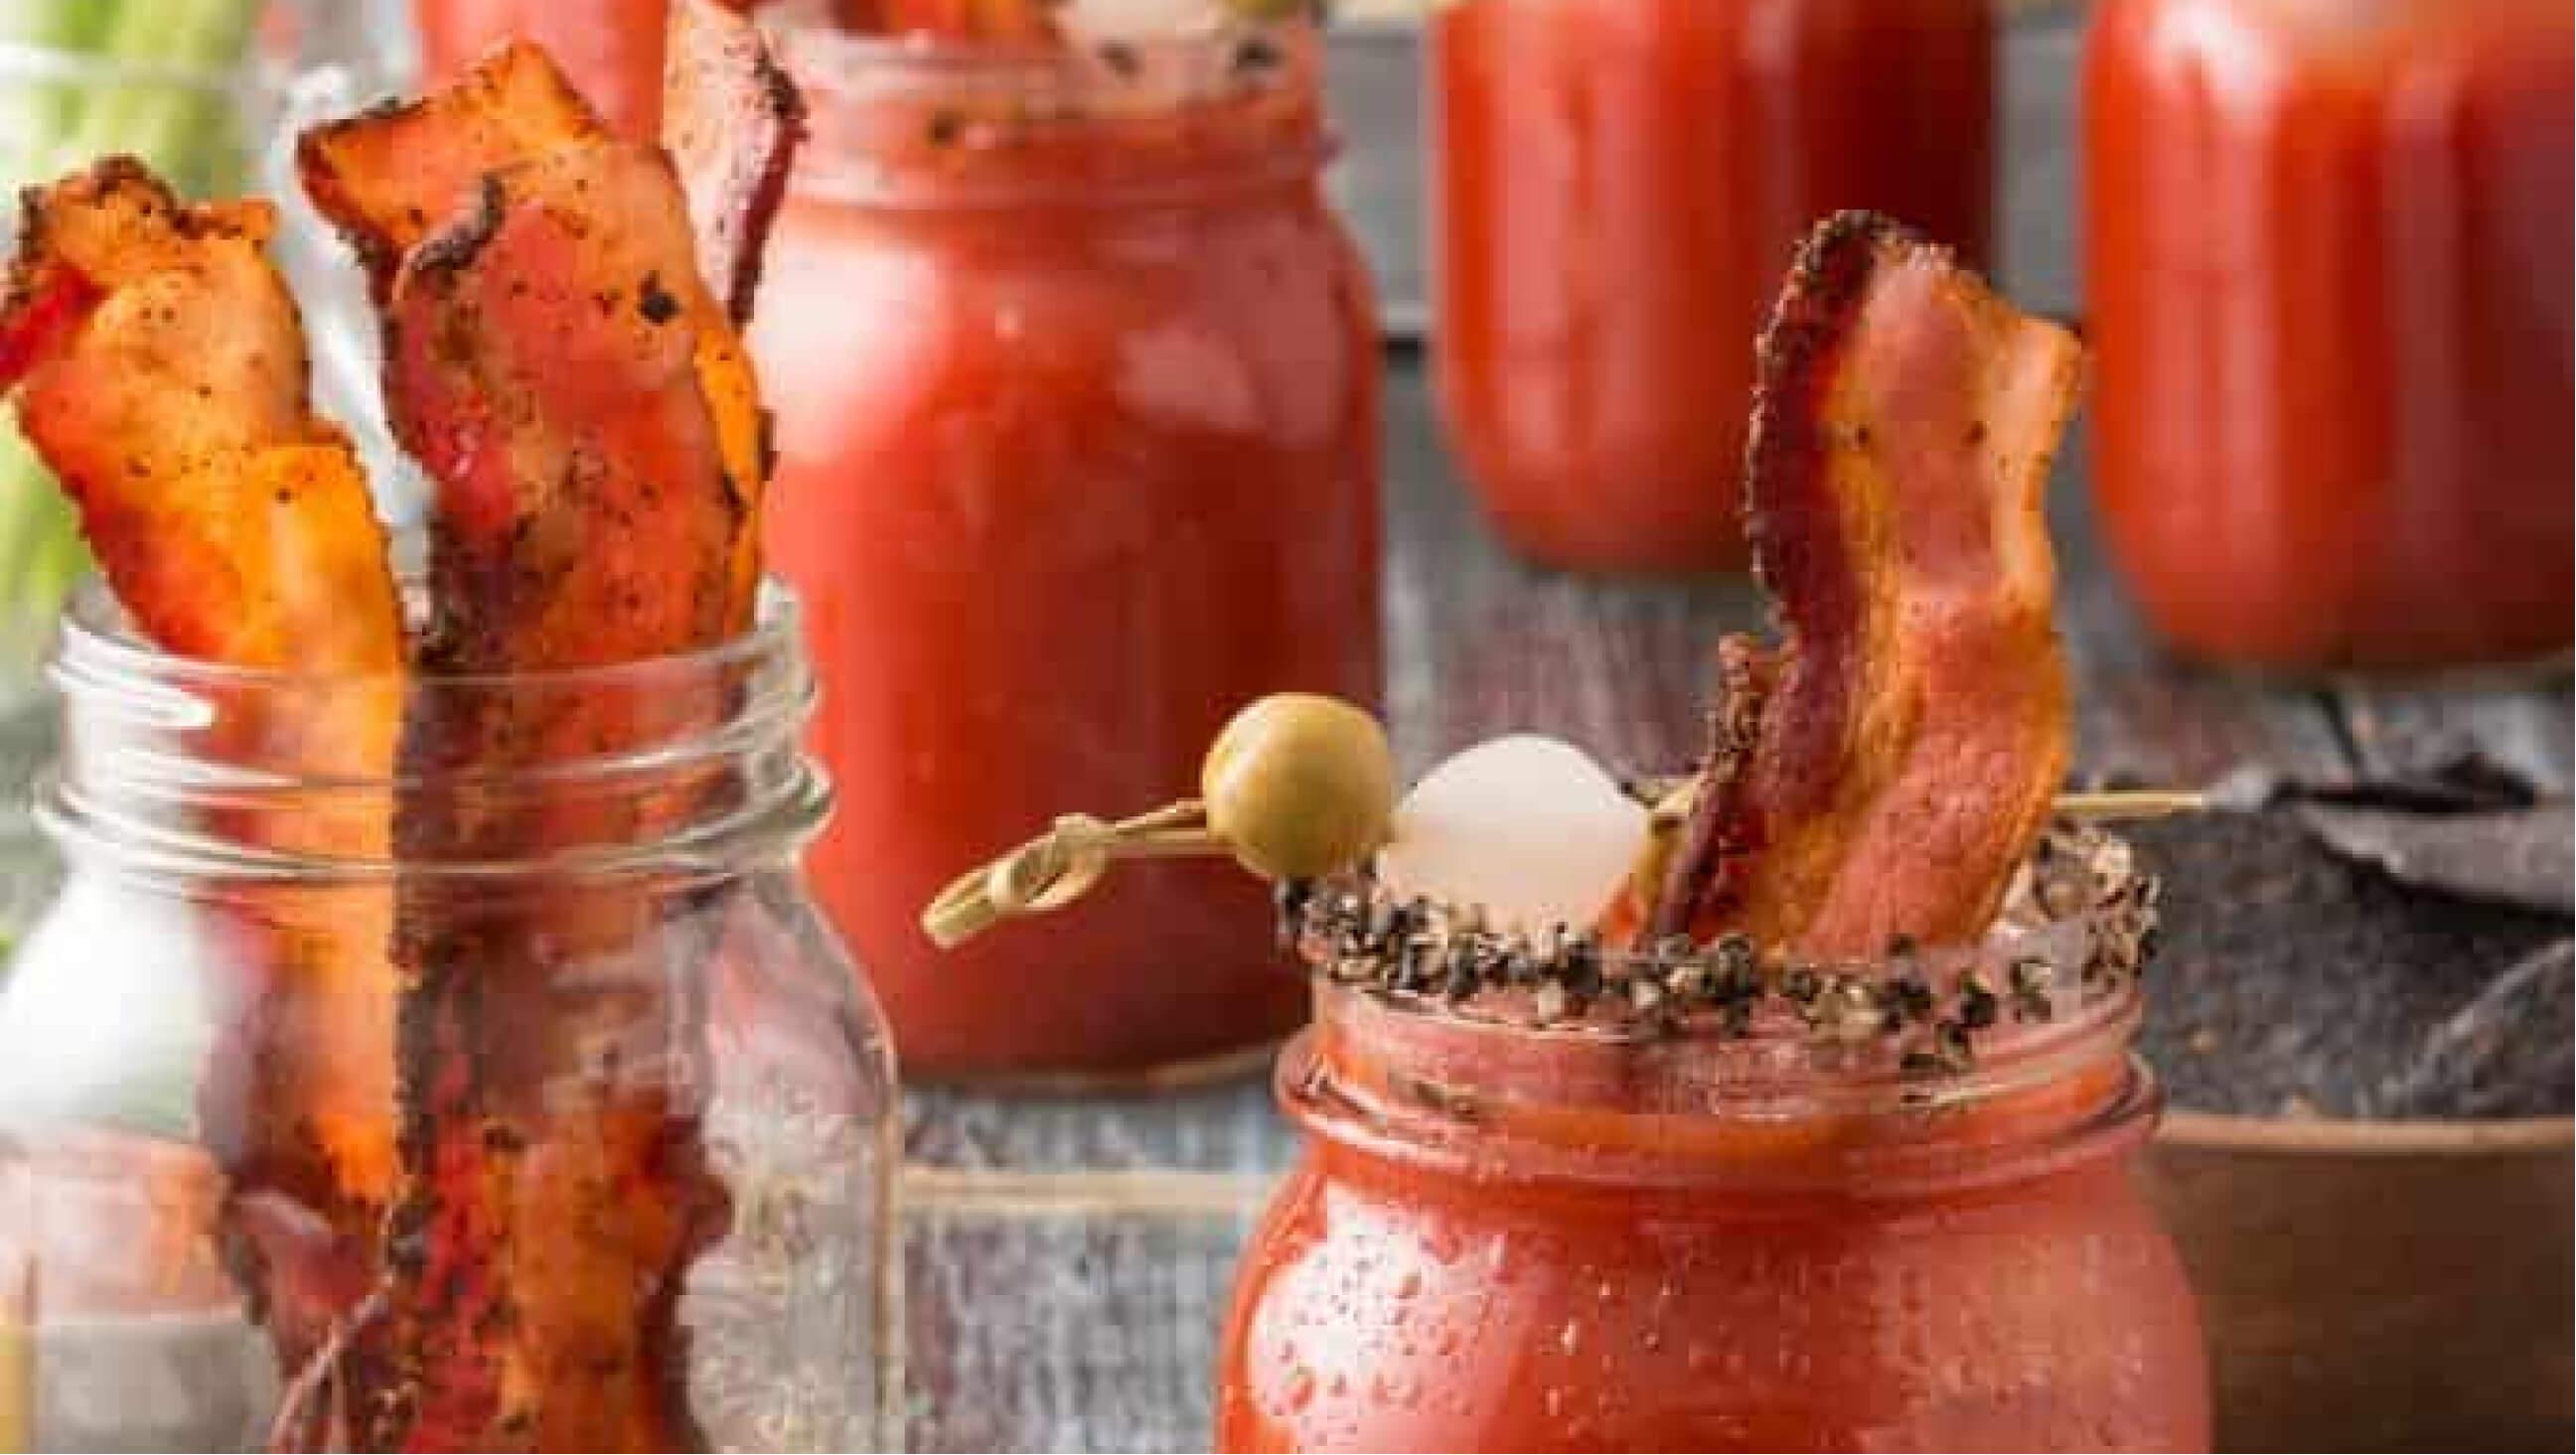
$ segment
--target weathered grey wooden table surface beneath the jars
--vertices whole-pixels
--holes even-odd
[[[1569,737],[1607,762],[1685,762],[1710,646],[1759,621],[1752,587],[1520,567],[1443,461],[1422,366],[1404,350],[1386,402],[1388,716],[1404,770],[1512,729]],[[2259,767],[2336,783],[2478,749],[2566,788],[2563,680],[2280,688],[2190,670],[2123,603],[2079,458],[2061,466],[2053,512],[2079,775],[2213,783]],[[1206,1447],[1231,1259],[1293,1154],[1267,1084],[1159,1100],[920,1089],[907,1133],[912,1447]]]

